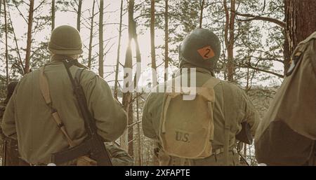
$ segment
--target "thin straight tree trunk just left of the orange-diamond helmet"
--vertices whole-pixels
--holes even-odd
[[[168,23],[168,0],[164,4],[164,81],[168,81],[168,68],[169,68],[169,23]]]

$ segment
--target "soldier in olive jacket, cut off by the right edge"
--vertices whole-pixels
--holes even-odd
[[[258,125],[256,159],[266,165],[316,165],[316,32],[291,57],[281,88]]]

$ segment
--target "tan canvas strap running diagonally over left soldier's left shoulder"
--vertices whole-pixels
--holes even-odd
[[[67,130],[65,129],[65,125],[64,123],[62,123],[62,120],[57,110],[53,108],[53,102],[51,101],[51,93],[49,91],[48,80],[46,75],[44,74],[44,69],[45,66],[39,69],[39,88],[41,90],[41,95],[43,95],[46,105],[51,109],[51,116],[53,116],[55,123],[59,127],[62,134],[64,134],[64,136],[66,137],[68,144],[70,145],[70,147],[74,147],[74,141],[72,141],[72,139],[68,135]]]

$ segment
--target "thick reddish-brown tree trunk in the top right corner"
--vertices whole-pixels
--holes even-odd
[[[285,0],[287,39],[291,55],[298,43],[316,31],[316,1]]]

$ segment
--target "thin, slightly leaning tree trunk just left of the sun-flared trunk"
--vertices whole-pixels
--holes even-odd
[[[123,18],[123,0],[121,0],[121,11],[119,15],[119,44],[117,46],[117,64],[115,67],[114,97],[117,99],[119,81],[119,53],[121,51],[121,23]]]

